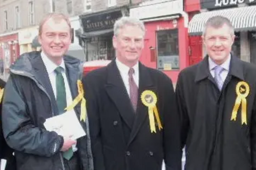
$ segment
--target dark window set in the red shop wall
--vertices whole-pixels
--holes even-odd
[[[157,68],[160,70],[180,68],[178,29],[157,32]]]

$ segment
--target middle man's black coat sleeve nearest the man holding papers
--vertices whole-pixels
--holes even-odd
[[[90,124],[90,136],[91,136],[91,146],[92,146],[92,155],[93,155],[93,166],[94,170],[104,170],[104,157],[102,153],[102,143],[101,143],[101,127],[99,120],[99,105],[96,100],[96,92],[94,87],[97,87],[93,84],[90,78],[84,77],[82,79],[83,88],[85,91],[86,98],[86,108]]]

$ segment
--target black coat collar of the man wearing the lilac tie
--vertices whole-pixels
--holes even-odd
[[[195,82],[201,81],[210,76],[208,58],[209,58],[209,56],[207,55],[206,57],[204,57],[203,61],[201,61],[198,64]],[[243,70],[244,70],[244,68],[243,68],[242,61],[231,54],[229,74],[231,76],[234,76],[241,80],[244,80],[244,71]]]

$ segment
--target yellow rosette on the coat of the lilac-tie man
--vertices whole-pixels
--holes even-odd
[[[248,83],[241,81],[237,84],[236,87],[236,92],[237,92],[237,99],[236,102],[234,103],[232,115],[231,115],[231,120],[236,121],[237,119],[237,114],[238,114],[238,109],[242,103],[242,108],[241,108],[241,117],[242,117],[242,125],[245,124],[247,125],[247,117],[246,117],[246,108],[247,108],[247,101],[246,97],[248,96],[250,92],[250,87]]]

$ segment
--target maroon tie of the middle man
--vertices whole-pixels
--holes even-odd
[[[134,69],[130,68],[128,75],[129,75],[129,85],[130,85],[130,99],[133,105],[133,109],[136,113],[137,109],[137,101],[138,101],[138,87],[133,79]]]

